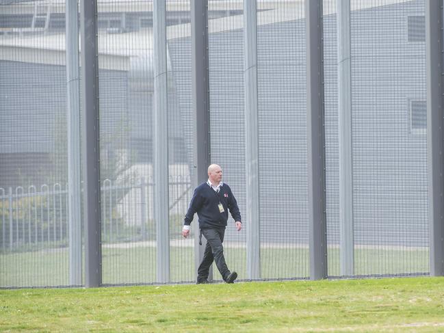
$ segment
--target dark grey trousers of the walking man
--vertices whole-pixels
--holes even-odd
[[[220,271],[220,275],[226,280],[228,275],[230,275],[230,271],[225,263],[224,247],[222,246],[225,228],[205,228],[202,229],[202,234],[205,239],[207,239],[207,246],[205,246],[203,259],[197,270],[197,280],[207,280],[209,267],[211,266],[211,263],[213,263],[213,260]]]

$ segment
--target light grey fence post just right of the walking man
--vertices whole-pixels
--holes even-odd
[[[259,213],[259,116],[257,106],[257,0],[244,0],[247,273],[261,277]]]

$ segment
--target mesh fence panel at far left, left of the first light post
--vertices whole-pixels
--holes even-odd
[[[0,13],[0,286],[67,285],[64,1]]]

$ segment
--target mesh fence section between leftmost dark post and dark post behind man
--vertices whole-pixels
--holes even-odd
[[[114,218],[110,223],[120,227],[119,239],[109,239],[111,243],[103,248],[103,282],[156,282],[156,269],[159,269],[156,225],[159,225],[154,213],[156,196],[160,192],[156,188],[153,168],[157,158],[153,137],[154,126],[157,126],[154,118],[157,103],[153,36],[155,3],[114,1],[106,3],[103,12],[100,8],[99,45],[103,45],[105,53],[102,62],[112,65],[112,57],[105,55],[125,57],[129,62],[129,68],[116,68],[109,72],[107,79],[101,74],[100,81],[101,98],[107,100],[106,105],[101,105],[101,137],[106,140],[101,147],[105,159],[102,170],[106,176],[111,175],[108,178],[119,188],[114,199],[109,197],[109,202],[114,202],[114,211],[109,207],[105,211]],[[106,8],[108,12],[105,12]],[[109,10],[114,14],[109,14]],[[169,224],[170,280],[177,282],[192,280],[194,271],[192,242],[179,238],[191,186],[190,1],[166,1],[166,11],[161,15],[166,18],[167,83],[159,90],[159,94],[165,94],[166,100],[157,105],[165,112],[168,110],[169,167],[164,172],[168,174],[169,220],[159,223]],[[122,273],[118,272],[125,272],[125,275],[120,276],[118,274]]]

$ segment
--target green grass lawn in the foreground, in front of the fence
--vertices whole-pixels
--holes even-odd
[[[444,278],[0,290],[0,332],[444,332]]]

